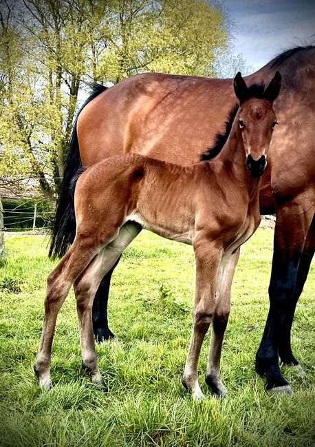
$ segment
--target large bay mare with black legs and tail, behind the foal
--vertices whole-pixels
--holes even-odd
[[[314,173],[315,47],[296,47],[246,77],[248,85],[269,82],[281,70],[282,89],[274,103],[279,123],[261,182],[261,214],[276,214],[270,278],[270,310],[256,355],[256,370],[268,390],[292,393],[279,368],[303,369],[291,348],[294,311],[307,279],[315,247]],[[235,112],[229,79],[138,74],[107,89],[97,85],[78,114],[58,197],[50,256],[63,256],[76,223],[70,183],[78,167],[122,153],[138,153],[171,163],[212,158],[226,141]],[[230,119],[226,123],[227,117]],[[118,263],[118,262],[117,262]],[[113,269],[116,265],[113,266]],[[113,337],[107,322],[111,269],[93,305],[98,342]],[[285,388],[286,387],[286,388]]]

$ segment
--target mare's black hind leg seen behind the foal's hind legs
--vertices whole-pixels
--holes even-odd
[[[98,343],[109,340],[109,338],[115,337],[108,327],[107,320],[107,303],[109,295],[109,287],[111,285],[111,275],[115,267],[117,266],[121,256],[115,262],[113,267],[102,278],[98,291],[96,292],[93,302],[93,332]]]

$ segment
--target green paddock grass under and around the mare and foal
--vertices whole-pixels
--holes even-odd
[[[259,446],[315,444],[314,265],[298,303],[292,340],[307,372],[283,373],[292,397],[270,396],[254,371],[268,312],[270,229],[243,246],[221,375],[230,394],[215,399],[204,384],[208,337],[199,361],[206,399],[180,384],[191,333],[193,251],[142,233],[113,276],[109,322],[117,340],[97,346],[107,393],[80,367],[73,294],[58,315],[52,352],[54,388],[39,388],[32,364],[43,322],[47,259],[43,236],[6,238],[0,269],[1,446]]]

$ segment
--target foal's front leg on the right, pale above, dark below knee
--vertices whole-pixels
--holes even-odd
[[[224,253],[217,274],[217,287],[215,291],[215,311],[213,313],[212,331],[210,339],[210,351],[206,372],[206,384],[213,392],[221,397],[228,393],[221,382],[220,359],[224,332],[230,315],[230,296],[232,279],[237,261],[239,260],[239,248],[235,253]]]

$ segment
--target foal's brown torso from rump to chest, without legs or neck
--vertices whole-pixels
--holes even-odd
[[[175,165],[122,154],[101,160],[78,179],[76,220],[81,227],[91,217],[101,227],[117,228],[133,220],[165,238],[191,243],[197,214],[207,216],[213,231],[220,232],[223,223],[239,225],[248,206],[241,194],[220,160]]]

